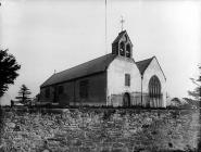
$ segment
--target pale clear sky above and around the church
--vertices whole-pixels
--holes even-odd
[[[188,97],[201,58],[199,0],[0,0],[0,49],[22,65],[8,94],[25,84],[33,92],[60,72],[111,53],[121,16],[140,61],[156,56],[171,97]]]

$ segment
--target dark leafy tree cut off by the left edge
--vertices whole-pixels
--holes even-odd
[[[9,89],[9,85],[14,84],[20,68],[21,65],[16,63],[12,54],[8,53],[8,49],[0,50],[0,97]]]

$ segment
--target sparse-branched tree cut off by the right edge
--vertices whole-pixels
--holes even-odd
[[[201,101],[201,65],[199,67],[199,76],[198,78],[190,78],[191,81],[196,85],[194,90],[188,91],[189,96],[191,96],[194,101]]]

